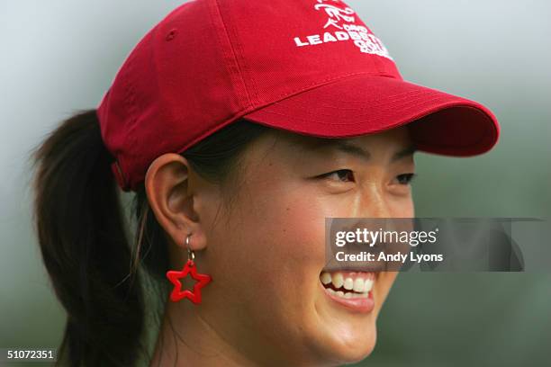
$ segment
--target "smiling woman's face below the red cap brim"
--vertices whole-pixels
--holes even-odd
[[[406,128],[327,141],[279,130],[257,139],[242,157],[233,191],[205,188],[192,172],[188,178],[194,237],[204,246],[197,267],[212,276],[194,312],[262,365],[336,365],[370,354],[396,273],[375,274],[373,308],[335,300],[321,282],[325,218],[414,215]],[[229,193],[230,207],[220,206]],[[354,282],[373,276],[341,275]],[[339,276],[331,273],[330,284],[339,285]]]

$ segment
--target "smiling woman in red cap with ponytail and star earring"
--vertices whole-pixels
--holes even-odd
[[[339,0],[179,6],[36,152],[63,363],[365,358],[396,273],[324,268],[325,218],[411,218],[415,149],[498,135],[483,105],[404,81]],[[115,183],[135,192],[131,244]]]

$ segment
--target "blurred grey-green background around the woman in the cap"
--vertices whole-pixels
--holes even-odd
[[[64,327],[32,229],[30,149],[59,121],[95,107],[133,46],[181,3],[0,4],[0,347],[57,347]],[[501,122],[486,155],[417,156],[417,215],[549,218],[550,3],[348,4],[402,76],[484,103]],[[375,352],[359,365],[549,365],[550,311],[551,273],[402,273]]]

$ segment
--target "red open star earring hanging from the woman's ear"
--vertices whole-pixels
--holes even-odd
[[[197,273],[196,266],[194,263],[195,254],[192,249],[189,247],[189,237],[185,237],[185,246],[187,247],[187,263],[185,263],[184,268],[180,271],[170,270],[167,272],[168,280],[174,284],[174,289],[170,293],[170,300],[177,302],[188,298],[195,304],[201,303],[201,289],[211,282],[212,278],[209,274]],[[184,290],[182,291],[182,278],[185,278],[187,274],[190,274],[191,277],[197,281],[194,284],[194,291]]]

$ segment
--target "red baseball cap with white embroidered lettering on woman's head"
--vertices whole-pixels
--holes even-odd
[[[124,191],[156,157],[239,118],[325,138],[411,123],[418,149],[461,157],[490,150],[500,133],[482,104],[404,81],[340,0],[182,4],[131,50],[97,115]]]

